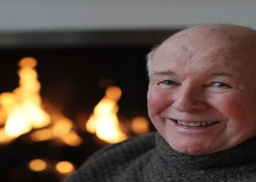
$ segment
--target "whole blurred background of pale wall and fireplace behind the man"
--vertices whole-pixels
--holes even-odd
[[[256,28],[256,1],[0,0],[0,181],[61,181],[154,131],[146,54],[191,25]]]

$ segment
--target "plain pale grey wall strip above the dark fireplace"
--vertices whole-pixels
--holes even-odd
[[[0,0],[0,32],[183,28],[236,23],[256,28],[255,0]]]

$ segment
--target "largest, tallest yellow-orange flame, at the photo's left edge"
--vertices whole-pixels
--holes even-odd
[[[19,66],[20,86],[13,92],[4,92],[0,95],[0,104],[6,113],[4,132],[1,131],[0,136],[9,136],[9,139],[50,123],[50,116],[41,107],[40,83],[34,69],[37,60],[23,58]]]

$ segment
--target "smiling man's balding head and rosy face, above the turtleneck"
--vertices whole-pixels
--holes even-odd
[[[235,25],[181,31],[148,60],[148,113],[184,154],[230,149],[256,134],[256,35]]]

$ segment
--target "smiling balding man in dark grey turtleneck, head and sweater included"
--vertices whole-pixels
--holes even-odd
[[[94,154],[66,181],[256,181],[256,31],[199,25],[148,54],[157,129]]]

